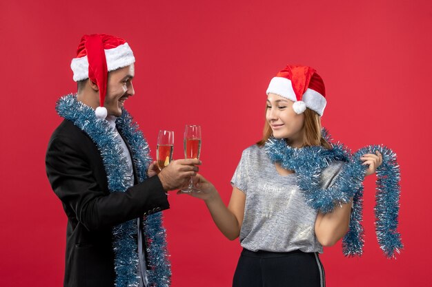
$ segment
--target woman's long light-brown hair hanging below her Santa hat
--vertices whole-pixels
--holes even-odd
[[[331,149],[331,145],[321,135],[321,116],[312,109],[306,108],[304,111],[304,126],[303,126],[303,145],[302,147],[311,147],[320,145],[326,149]],[[257,142],[259,147],[264,146],[268,138],[271,137],[273,131],[266,120],[264,123],[264,131],[262,139]]]

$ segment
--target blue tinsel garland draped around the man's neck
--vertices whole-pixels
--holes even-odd
[[[129,187],[127,160],[119,139],[115,137],[115,129],[106,120],[95,116],[95,110],[77,100],[75,95],[63,96],[57,102],[59,116],[70,120],[84,131],[99,149],[110,192],[125,192]],[[147,168],[152,159],[149,148],[138,125],[132,121],[128,111],[123,110],[116,120],[120,134],[124,136],[131,149],[131,157],[137,169],[139,182],[147,178]],[[112,228],[112,248],[115,253],[115,286],[139,286],[138,254],[137,254],[137,220],[130,220]],[[147,261],[151,267],[147,270],[148,281],[151,286],[170,286],[171,269],[166,246],[166,233],[162,226],[162,213],[154,213],[144,217],[144,236],[147,246]]]

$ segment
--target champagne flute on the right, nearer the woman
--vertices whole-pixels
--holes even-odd
[[[201,153],[201,126],[186,125],[184,129],[184,158],[199,159],[199,153]],[[191,177],[188,188],[181,191],[186,193],[199,192],[199,189],[193,186]]]

